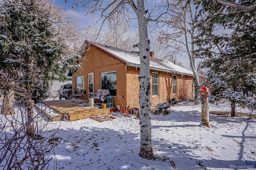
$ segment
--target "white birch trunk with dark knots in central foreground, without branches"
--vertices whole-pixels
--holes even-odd
[[[150,40],[148,39],[147,18],[145,13],[144,0],[128,0],[138,18],[140,42],[137,44],[140,49],[140,156],[146,159],[153,159],[150,122]]]

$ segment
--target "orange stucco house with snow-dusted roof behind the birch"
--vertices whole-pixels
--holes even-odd
[[[114,106],[122,104],[117,95],[124,96],[128,107],[139,107],[140,57],[138,52],[85,41],[90,47],[82,68],[74,75],[73,87],[84,89],[80,99],[89,100],[98,89],[109,89]],[[192,93],[192,71],[170,61],[154,58],[150,53],[151,109],[168,99],[189,99]],[[123,100],[122,100],[123,103]]]

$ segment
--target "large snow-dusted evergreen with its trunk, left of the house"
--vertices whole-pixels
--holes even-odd
[[[73,64],[75,71],[80,56],[64,55],[65,43],[54,34],[49,4],[47,0],[0,1],[0,84],[24,95],[28,136],[34,136],[33,93],[56,77],[65,80],[68,65]]]

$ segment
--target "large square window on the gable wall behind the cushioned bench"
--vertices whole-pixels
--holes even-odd
[[[101,73],[101,89],[108,89],[110,95],[116,96],[116,71]]]

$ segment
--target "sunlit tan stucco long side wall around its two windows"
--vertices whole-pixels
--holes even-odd
[[[186,98],[191,95],[191,83],[193,77],[188,77],[186,75],[176,75],[177,76],[177,94],[172,94],[172,74],[162,71],[150,71],[150,83],[152,84],[152,72],[158,73],[158,95],[152,96],[152,91],[150,101],[151,109],[155,109],[155,105],[167,101],[168,99],[176,98],[179,99],[182,93],[186,94]],[[139,90],[140,83],[138,81],[138,75],[140,74],[140,68],[127,67],[127,105],[130,107],[140,107],[139,106]],[[175,74],[174,74],[175,75]],[[185,88],[185,90],[184,90]],[[152,89],[152,87],[151,87]]]

